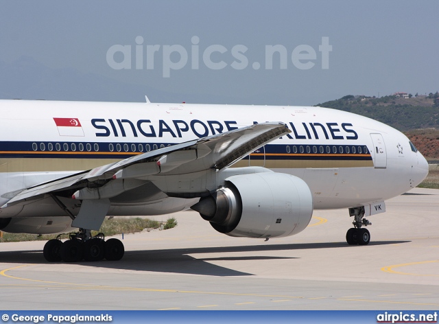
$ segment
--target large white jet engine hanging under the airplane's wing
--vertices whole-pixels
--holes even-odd
[[[266,172],[230,176],[224,187],[201,198],[191,209],[226,235],[282,238],[307,227],[313,200],[302,179]]]

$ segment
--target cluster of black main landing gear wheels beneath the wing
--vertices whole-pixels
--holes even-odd
[[[44,246],[43,255],[49,262],[85,261],[118,261],[123,257],[125,249],[117,238],[105,241],[104,234],[91,236],[90,231],[80,229],[78,233],[70,233],[69,240],[61,242],[60,236],[49,240]]]

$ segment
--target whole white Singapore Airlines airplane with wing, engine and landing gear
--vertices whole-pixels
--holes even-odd
[[[119,260],[106,216],[193,209],[233,237],[303,231],[314,209],[348,209],[366,245],[385,200],[428,164],[403,133],[318,106],[0,100],[0,230],[69,233],[48,262]]]

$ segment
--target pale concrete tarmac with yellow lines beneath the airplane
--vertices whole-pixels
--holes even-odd
[[[118,262],[49,264],[45,242],[0,243],[3,310],[432,310],[439,308],[439,190],[412,189],[349,246],[347,209],[317,210],[268,242],[217,233],[194,211],[123,235]],[[117,238],[121,239],[121,235]]]

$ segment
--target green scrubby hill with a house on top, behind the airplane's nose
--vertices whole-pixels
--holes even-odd
[[[437,92],[430,93],[429,96],[407,99],[394,95],[380,98],[345,95],[340,99],[323,102],[317,106],[364,115],[403,132],[418,128],[439,128],[439,95]]]

